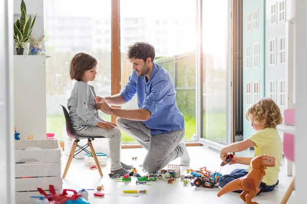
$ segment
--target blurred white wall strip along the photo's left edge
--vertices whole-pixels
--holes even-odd
[[[0,0],[0,200],[15,203],[13,135],[13,4]]]

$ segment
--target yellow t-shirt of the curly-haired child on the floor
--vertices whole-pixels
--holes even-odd
[[[282,159],[282,142],[277,130],[274,128],[259,130],[248,139],[255,143],[253,159],[261,155],[275,157],[275,166],[267,167],[266,175],[264,176],[262,182],[268,186],[276,184],[281,166],[280,161]],[[251,169],[251,166],[249,166],[247,171],[250,172]]]

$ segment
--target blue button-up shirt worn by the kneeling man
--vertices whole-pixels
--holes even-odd
[[[174,83],[162,66],[154,64],[148,82],[145,75],[138,77],[135,71],[131,73],[120,94],[128,102],[136,93],[139,108],[151,113],[151,117],[144,121],[151,129],[151,135],[184,129],[184,116],[177,107]]]

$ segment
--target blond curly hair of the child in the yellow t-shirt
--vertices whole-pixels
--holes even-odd
[[[245,117],[248,121],[263,125],[265,128],[276,128],[276,125],[281,124],[283,121],[279,107],[271,98],[262,98],[250,105]]]

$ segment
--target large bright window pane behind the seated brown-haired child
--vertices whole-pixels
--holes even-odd
[[[99,60],[90,84],[97,95],[111,95],[111,0],[44,0],[44,4],[45,46],[51,55],[46,60],[47,132],[55,132],[63,141],[66,128],[59,104],[67,107],[75,83],[69,74],[75,54],[89,53]],[[111,121],[111,116],[100,114]]]

